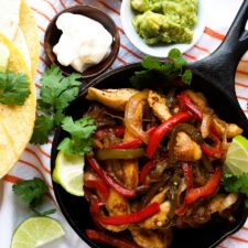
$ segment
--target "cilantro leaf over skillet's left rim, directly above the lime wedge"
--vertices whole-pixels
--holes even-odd
[[[65,138],[57,147],[67,155],[84,155],[90,152],[93,138],[96,130],[94,119],[83,117],[74,121],[72,117],[66,117],[62,122],[63,130],[71,133],[71,138]]]

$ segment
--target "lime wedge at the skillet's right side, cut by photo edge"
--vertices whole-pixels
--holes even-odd
[[[226,168],[234,175],[248,173],[248,140],[242,136],[236,136],[228,148]]]

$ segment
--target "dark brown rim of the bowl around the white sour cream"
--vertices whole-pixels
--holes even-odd
[[[119,53],[119,48],[120,48],[120,34],[119,34],[119,31],[118,31],[118,28],[117,28],[115,21],[111,19],[110,15],[108,15],[107,13],[105,13],[105,12],[104,12],[103,10],[100,10],[99,8],[94,7],[94,6],[89,6],[89,4],[78,4],[78,6],[74,6],[74,7],[66,8],[66,9],[64,9],[64,10],[62,10],[61,12],[56,13],[56,14],[53,17],[53,19],[50,21],[50,23],[48,23],[48,25],[47,25],[47,28],[46,28],[46,30],[45,30],[45,35],[44,35],[44,52],[45,52],[45,54],[46,54],[46,57],[48,58],[50,64],[52,64],[52,65],[57,65],[57,64],[58,64],[57,66],[58,66],[60,68],[62,67],[62,65],[61,65],[60,63],[56,64],[56,63],[54,63],[54,62],[51,60],[50,54],[48,54],[48,52],[47,52],[48,47],[51,47],[51,45],[48,44],[48,42],[46,42],[46,40],[48,39],[48,34],[50,34],[48,31],[50,31],[50,30],[52,31],[53,29],[56,29],[56,30],[57,30],[55,22],[56,22],[57,18],[58,18],[61,14],[66,13],[66,12],[71,12],[71,11],[74,11],[74,10],[80,10],[82,8],[91,9],[93,11],[99,12],[100,14],[105,15],[105,18],[108,19],[108,23],[109,23],[109,24],[112,26],[112,29],[115,30],[115,32],[114,32],[115,34],[112,35],[112,44],[111,44],[111,46],[115,46],[115,50],[114,50],[114,52],[111,51],[110,54],[106,57],[106,58],[110,57],[110,60],[109,60],[109,62],[108,62],[100,71],[98,71],[98,72],[96,72],[96,73],[93,73],[93,74],[90,74],[90,75],[84,75],[84,72],[83,72],[83,73],[78,73],[77,71],[74,69],[74,73],[80,74],[82,77],[83,77],[83,79],[91,79],[93,77],[97,77],[97,76],[99,76],[100,74],[104,74],[104,73],[112,65],[112,63],[116,61],[116,57],[117,57],[117,55],[118,55],[118,53]],[[93,19],[93,20],[95,20],[95,19]],[[106,30],[108,30],[108,29],[106,28],[106,25],[105,25],[105,22],[103,22],[103,21],[98,21],[98,22],[101,23]],[[109,31],[109,30],[108,30],[108,31]],[[105,60],[106,60],[106,58],[105,58]],[[104,63],[105,60],[101,61],[100,63]],[[99,63],[99,64],[100,64],[100,63]],[[97,67],[97,66],[98,66],[98,64],[94,65],[94,67]],[[64,72],[63,68],[61,68],[61,69],[62,69],[62,72],[63,72],[63,74],[65,74],[65,75],[71,75],[69,73]],[[87,69],[86,69],[86,71],[87,71]],[[85,71],[85,72],[86,72],[86,71]]]

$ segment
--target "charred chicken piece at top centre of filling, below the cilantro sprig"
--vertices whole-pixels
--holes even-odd
[[[149,90],[148,104],[152,108],[154,115],[163,122],[171,117],[171,112],[166,106],[166,99],[157,91]]]

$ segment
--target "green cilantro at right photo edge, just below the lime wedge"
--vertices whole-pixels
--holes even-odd
[[[223,185],[227,192],[242,193],[246,195],[246,206],[248,207],[248,173],[234,175],[224,173]]]

